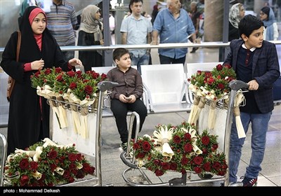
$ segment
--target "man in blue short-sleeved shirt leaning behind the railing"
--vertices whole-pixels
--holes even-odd
[[[167,8],[157,14],[152,30],[152,45],[159,43],[188,43],[188,36],[196,42],[195,28],[179,0],[167,0]],[[176,32],[176,33],[175,33]],[[185,64],[188,48],[159,48],[161,64]]]

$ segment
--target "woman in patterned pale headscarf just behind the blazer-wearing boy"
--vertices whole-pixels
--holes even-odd
[[[240,38],[238,31],[238,24],[244,17],[245,10],[242,3],[235,3],[229,11],[229,25],[228,25],[228,41],[235,38]]]

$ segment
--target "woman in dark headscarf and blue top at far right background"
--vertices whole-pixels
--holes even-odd
[[[261,8],[259,16],[264,25],[263,38],[267,41],[277,40],[279,34],[273,9],[270,7],[263,7]]]

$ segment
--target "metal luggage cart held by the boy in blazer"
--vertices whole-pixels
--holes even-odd
[[[227,109],[223,110],[223,116],[225,117],[225,126],[223,127],[223,135],[221,136],[221,140],[223,145],[221,145],[221,151],[226,155],[226,163],[228,164],[229,160],[229,144],[230,144],[230,131],[231,124],[233,122],[233,106],[235,102],[235,95],[237,90],[247,90],[248,85],[240,80],[233,80],[229,83],[229,87],[231,89],[230,99],[228,102]],[[242,91],[244,92],[244,91]],[[204,111],[202,114],[206,113]],[[201,116],[200,113],[200,116]],[[201,118],[198,120],[198,123],[202,123]],[[221,119],[221,118],[220,118]],[[199,126],[200,127],[200,126]],[[129,129],[129,135],[131,135],[131,129]],[[138,137],[138,129],[136,130],[136,137]],[[131,138],[131,137],[129,137]],[[220,142],[218,141],[220,144]],[[220,145],[218,145],[220,147]],[[130,143],[128,142],[127,150],[120,154],[120,158],[124,162],[128,168],[124,169],[122,173],[122,177],[124,181],[130,186],[187,186],[190,184],[198,184],[198,183],[213,183],[218,186],[230,186],[229,183],[229,173],[226,172],[225,176],[214,176],[213,174],[195,174],[195,172],[187,171],[185,174],[181,174],[179,172],[167,172],[163,176],[155,176],[153,172],[148,171],[146,168],[139,168],[136,165],[136,160],[133,157],[133,148],[131,148]],[[176,173],[176,174],[175,174]],[[238,185],[231,185],[238,186]]]

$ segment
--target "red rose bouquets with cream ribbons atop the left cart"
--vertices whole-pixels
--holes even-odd
[[[107,80],[105,73],[63,71],[60,67],[42,69],[31,76],[37,94],[48,99],[61,129],[68,127],[67,110],[71,110],[74,132],[88,138],[87,115],[98,104],[98,83]]]

